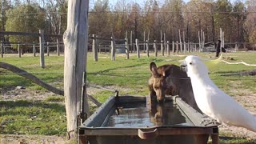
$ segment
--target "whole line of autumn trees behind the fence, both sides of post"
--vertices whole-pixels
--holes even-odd
[[[6,31],[63,34],[66,30],[65,0],[2,0],[0,26]],[[256,2],[236,0],[118,0],[90,1],[89,33],[98,37],[133,38],[150,41],[179,41],[179,30],[186,42],[198,42],[198,30],[205,33],[206,42],[217,41],[219,29],[226,42],[256,42]],[[162,34],[161,34],[162,33]],[[46,38],[46,41],[50,38]],[[6,37],[10,42],[37,42],[38,38]]]

